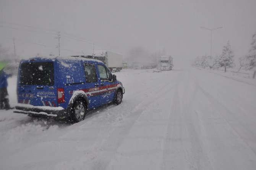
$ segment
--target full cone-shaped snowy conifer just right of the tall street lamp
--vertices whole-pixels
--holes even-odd
[[[219,64],[221,67],[224,66],[225,72],[227,68],[230,68],[230,67],[233,68],[233,66],[235,66],[234,55],[233,55],[233,51],[231,50],[229,41],[227,42],[227,45],[223,47],[222,54],[220,55],[220,58],[219,58]]]

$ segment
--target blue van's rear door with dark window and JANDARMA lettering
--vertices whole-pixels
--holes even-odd
[[[18,102],[57,107],[57,86],[53,61],[23,62],[19,66]]]

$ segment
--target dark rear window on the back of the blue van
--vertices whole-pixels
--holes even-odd
[[[53,62],[22,63],[19,84],[53,86],[54,71]]]

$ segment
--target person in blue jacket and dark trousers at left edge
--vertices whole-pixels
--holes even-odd
[[[0,110],[12,109],[9,104],[8,92],[7,92],[7,78],[9,74],[6,74],[3,69],[0,70]]]

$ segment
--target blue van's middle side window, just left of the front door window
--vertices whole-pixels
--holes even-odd
[[[97,72],[94,64],[84,63],[84,73],[86,83],[97,82]]]

